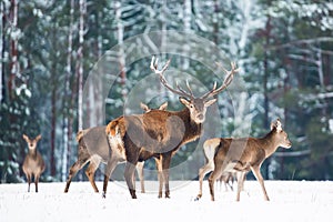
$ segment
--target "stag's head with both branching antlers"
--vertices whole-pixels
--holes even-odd
[[[181,89],[178,84],[176,84],[176,89],[173,89],[168,83],[168,81],[164,78],[163,73],[168,69],[169,64],[170,64],[170,60],[165,63],[165,65],[162,68],[162,70],[158,70],[158,59],[155,59],[153,57],[152,60],[151,60],[151,63],[150,63],[150,69],[159,75],[161,83],[168,90],[170,90],[171,92],[180,95],[180,99],[179,99],[180,102],[189,109],[191,119],[198,124],[204,122],[206,108],[210,107],[211,104],[213,104],[216,101],[216,99],[210,99],[210,98],[212,98],[212,97],[216,95],[218,93],[222,92],[232,82],[233,74],[239,71],[239,69],[236,69],[236,67],[235,67],[235,63],[231,63],[231,67],[232,67],[231,71],[228,71],[226,69],[224,69],[222,67],[223,71],[226,73],[226,77],[225,77],[222,85],[216,89],[216,82],[215,82],[212,90],[210,90],[209,92],[204,93],[201,97],[195,98],[192,90],[191,90],[191,88],[190,88],[189,82],[186,82],[188,91]]]

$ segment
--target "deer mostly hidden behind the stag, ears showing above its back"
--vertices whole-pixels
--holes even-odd
[[[144,103],[141,103],[140,107],[145,112],[150,112],[151,110],[153,110]],[[168,102],[164,102],[158,109],[165,110],[167,107],[168,107]],[[89,162],[89,165],[85,170],[85,175],[88,176],[89,182],[91,183],[91,186],[93,188],[94,192],[99,192],[99,189],[97,188],[95,182],[94,182],[94,173],[101,162],[107,164],[108,159],[109,159],[109,149],[111,149],[111,150],[115,149],[118,147],[118,143],[115,142],[115,144],[114,144],[114,141],[108,141],[108,135],[105,134],[105,125],[89,128],[89,129],[79,131],[77,133],[77,142],[79,143],[78,160],[70,168],[69,176],[68,176],[67,184],[64,188],[64,192],[65,193],[68,192],[73,176],[88,162]],[[113,144],[113,147],[111,144]],[[120,157],[114,155],[113,158],[117,159],[117,160],[114,160],[114,161],[117,161],[117,163],[124,162],[124,159],[121,155]],[[159,160],[155,159],[155,161],[157,161],[157,165],[159,165]],[[144,164],[144,162],[138,162],[137,170],[138,170],[139,179],[141,182],[141,191],[144,193],[143,164]],[[134,176],[133,176],[133,180],[134,180]]]

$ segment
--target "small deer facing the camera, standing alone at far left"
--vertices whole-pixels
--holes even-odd
[[[37,151],[37,143],[40,141],[41,135],[37,135],[34,139],[30,139],[28,135],[23,134],[23,139],[28,144],[28,154],[24,159],[22,169],[28,180],[28,192],[30,192],[30,183],[32,175],[34,178],[36,192],[38,192],[39,178],[46,170],[46,163],[41,154]]]

